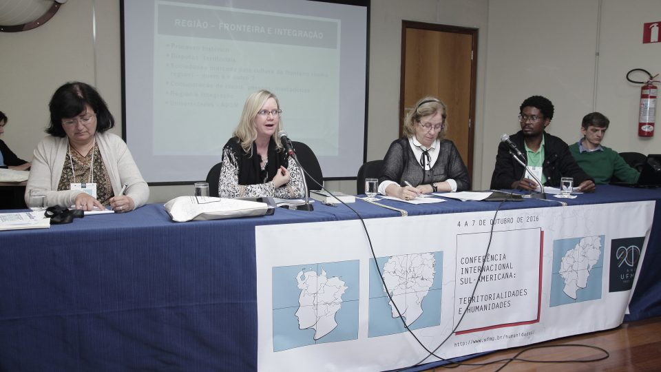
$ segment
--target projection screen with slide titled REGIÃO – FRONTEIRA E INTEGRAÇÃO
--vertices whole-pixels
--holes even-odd
[[[260,89],[277,95],[282,129],[313,149],[324,176],[355,176],[366,8],[301,0],[123,8],[126,140],[148,182],[203,179]]]

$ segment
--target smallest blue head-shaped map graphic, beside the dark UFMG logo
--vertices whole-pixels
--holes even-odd
[[[601,298],[605,236],[554,240],[550,306]]]

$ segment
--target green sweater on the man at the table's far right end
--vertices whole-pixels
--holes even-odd
[[[594,178],[596,184],[610,183],[613,176],[622,182],[636,183],[638,181],[640,173],[629,167],[620,154],[609,147],[602,146],[601,148],[604,151],[580,152],[578,143],[573,143],[569,146],[569,152],[585,173]]]

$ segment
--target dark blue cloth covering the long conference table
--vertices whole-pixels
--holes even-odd
[[[661,189],[600,185],[563,200],[643,200],[655,202],[653,225],[625,321],[661,315]],[[381,203],[409,216],[560,207],[532,198]],[[361,200],[350,206],[364,219],[400,216]],[[151,204],[49,229],[0,231],[0,370],[257,370],[255,227],[355,219],[347,207],[315,203],[314,211],[175,223],[163,205]]]

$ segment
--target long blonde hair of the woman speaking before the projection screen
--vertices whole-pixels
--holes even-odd
[[[254,92],[248,96],[246,103],[243,105],[243,113],[241,114],[239,124],[234,130],[232,136],[239,138],[241,141],[241,147],[246,153],[251,151],[253,148],[253,142],[257,139],[257,130],[255,129],[255,118],[257,117],[257,113],[262,110],[266,101],[271,98],[275,99],[277,108],[280,109],[280,101],[277,100],[277,96],[268,90],[258,90],[257,92]],[[275,133],[273,133],[273,140],[278,149],[282,148],[280,137],[277,136],[277,132],[280,132],[281,120],[282,118],[279,118],[277,121],[277,127],[275,128]]]

